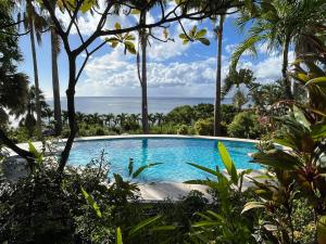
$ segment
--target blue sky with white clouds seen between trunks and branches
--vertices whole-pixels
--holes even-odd
[[[63,23],[67,22],[67,16],[60,14]],[[149,22],[155,17],[154,13],[149,15]],[[234,15],[226,18],[224,26],[223,40],[223,77],[228,72],[228,62],[235,47],[243,40],[246,34],[239,33],[235,26]],[[134,16],[114,17],[108,22],[108,28],[120,22],[123,26],[128,26],[135,21]],[[184,21],[187,29],[190,29],[196,22]],[[87,38],[95,28],[97,17],[85,14],[79,17],[79,26],[84,36]],[[178,38],[180,27],[172,24],[170,27],[170,37],[175,41],[163,43],[151,40],[151,47],[148,49],[148,93],[149,97],[214,97],[214,81],[216,69],[216,40],[212,33],[213,25],[210,21],[199,24],[200,28],[208,28],[208,38],[211,41],[209,47],[199,42],[187,46],[181,43]],[[162,36],[162,29],[153,30]],[[78,38],[73,30],[71,41],[78,43]],[[135,33],[135,36],[137,34]],[[100,40],[98,40],[100,43]],[[29,36],[22,37],[20,47],[24,55],[24,62],[20,64],[20,69],[29,76],[34,82],[33,62]],[[260,52],[258,57],[244,55],[241,59],[239,67],[251,68],[258,81],[271,82],[280,77],[280,56],[277,53],[266,53],[264,44],[258,47]],[[41,46],[37,47],[37,59],[39,69],[40,88],[48,98],[52,97],[51,80],[51,47],[50,35],[43,34]],[[80,56],[79,62],[83,61]],[[64,50],[59,56],[59,74],[61,95],[64,97],[67,86],[67,60]],[[137,78],[136,56],[124,54],[123,48],[112,49],[105,46],[88,62],[80,80],[76,87],[76,95],[127,95],[139,97],[140,88]]]

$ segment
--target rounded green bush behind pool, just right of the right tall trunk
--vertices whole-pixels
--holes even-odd
[[[259,116],[251,111],[237,114],[227,127],[227,134],[234,138],[260,138],[262,136],[262,128]]]

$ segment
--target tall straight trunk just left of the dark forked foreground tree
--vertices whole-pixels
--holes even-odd
[[[55,29],[51,28],[51,57],[52,57],[52,86],[53,86],[53,105],[55,120],[55,136],[62,131],[61,103],[60,103],[60,85],[58,74],[58,36]]]

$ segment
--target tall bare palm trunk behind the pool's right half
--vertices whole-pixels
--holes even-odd
[[[222,73],[222,40],[223,40],[224,15],[220,16],[217,31],[217,68],[216,68],[216,90],[214,105],[214,136],[221,136],[221,73]]]

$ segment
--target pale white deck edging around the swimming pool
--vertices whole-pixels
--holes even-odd
[[[259,143],[258,140],[238,139],[238,138],[225,138],[225,137],[204,137],[204,136],[179,136],[179,134],[122,134],[122,136],[103,136],[103,137],[85,137],[76,138],[77,141],[92,141],[92,140],[110,140],[110,139],[136,139],[136,138],[176,138],[176,139],[211,139],[222,141],[240,141]],[[59,142],[65,142],[66,139],[61,139]],[[42,149],[41,142],[33,142],[37,150]],[[17,144],[21,149],[28,150],[28,143]],[[17,156],[13,151],[8,150],[10,156]],[[239,169],[241,170],[241,169]],[[262,174],[262,170],[253,170],[250,177],[255,177]],[[181,182],[152,182],[152,183],[138,183],[140,189],[140,195],[143,201],[163,201],[172,200],[178,201],[186,196],[191,190],[197,190],[205,194],[208,198],[210,195],[206,193],[206,187],[186,184]],[[243,187],[249,185],[249,179],[244,178]]]

